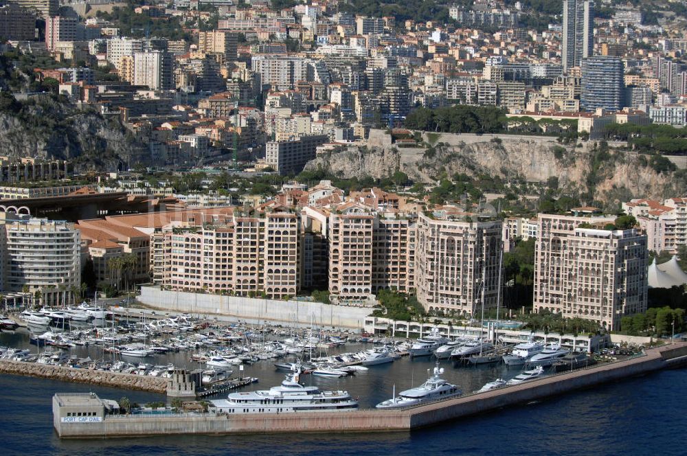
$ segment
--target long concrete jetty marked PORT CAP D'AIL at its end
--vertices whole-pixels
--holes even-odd
[[[475,413],[522,404],[576,389],[612,383],[659,369],[687,365],[687,343],[646,350],[624,361],[532,380],[486,393],[402,410],[255,413],[226,415],[111,415],[95,395],[56,394],[53,423],[60,437],[123,437],[165,434],[410,431]]]

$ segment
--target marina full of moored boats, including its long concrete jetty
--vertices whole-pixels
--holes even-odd
[[[679,360],[674,361],[674,358],[684,356],[677,356],[675,350],[685,352],[685,347],[675,345],[646,350],[644,354],[635,354],[620,361],[604,361],[600,365],[594,365],[589,363],[589,358],[584,353],[571,353],[571,350],[549,346],[547,348],[553,352],[554,360],[541,367],[541,373],[536,378],[527,380],[524,384],[506,385],[509,380],[513,383],[513,378],[520,376],[523,368],[508,366],[501,362],[500,358],[513,350],[513,344],[509,348],[508,344],[498,343],[498,362],[480,364],[454,363],[447,358],[440,359],[441,356],[433,353],[427,356],[405,356],[414,344],[413,341],[405,339],[322,331],[317,328],[293,330],[273,326],[219,324],[191,316],[164,316],[151,321],[110,321],[104,322],[100,328],[86,327],[71,331],[54,329],[49,328],[46,331],[49,333],[47,335],[45,332],[39,334],[43,336],[45,345],[32,345],[32,339],[37,341],[38,337],[25,328],[0,334],[0,345],[10,345],[0,357],[11,353],[12,356],[22,358],[22,361],[0,360],[0,371],[10,372],[3,367],[6,365],[67,370],[76,374],[60,377],[51,371],[43,376],[67,381],[84,381],[92,385],[144,390],[146,388],[141,387],[141,384],[150,379],[156,386],[148,388],[147,391],[166,391],[170,397],[181,397],[185,401],[184,407],[189,407],[184,409],[183,413],[175,411],[176,409],[170,406],[157,409],[154,413],[155,420],[152,421],[152,417],[148,418],[146,415],[151,413],[150,409],[142,408],[131,414],[121,414],[111,413],[105,408],[102,411],[101,423],[106,425],[100,425],[104,427],[94,431],[95,435],[100,437],[158,435],[171,433],[172,429],[175,429],[174,432],[201,434],[416,429],[418,426],[482,413],[494,407],[518,404],[531,400],[528,399],[530,397],[536,400],[550,394],[561,394],[602,382],[603,378],[616,380],[623,378],[619,372],[626,372],[627,369],[631,372],[629,375],[662,369],[668,364],[679,363]],[[463,346],[474,350],[474,346],[480,341],[484,343],[482,338],[476,339],[470,334],[463,334],[462,337],[455,339],[441,339],[436,343],[434,350],[443,345],[451,345],[452,350]],[[54,343],[59,345],[51,347]],[[140,356],[128,355],[127,352],[130,350],[140,351]],[[561,352],[565,353],[561,355]],[[664,356],[666,353],[669,356]],[[488,352],[482,347],[482,354],[480,355],[477,350],[477,356],[496,355],[495,352]],[[660,359],[657,360],[656,356]],[[587,361],[583,362],[583,358]],[[666,361],[668,358],[673,361]],[[463,356],[461,360],[464,361],[466,358]],[[71,365],[75,361],[78,363]],[[216,365],[210,364],[212,361]],[[609,367],[611,370],[607,370]],[[532,369],[532,366],[525,365],[524,368]],[[281,387],[273,387],[284,378],[285,372],[280,369],[290,370],[291,380],[284,381],[291,381],[293,391],[299,391],[297,397],[306,400],[306,407],[294,409],[280,402],[284,400],[284,391],[280,388],[285,385],[282,383]],[[294,382],[293,375],[296,371],[298,379]],[[425,371],[426,376],[423,374]],[[240,376],[236,375],[238,372]],[[580,376],[581,374],[583,376]],[[176,394],[170,392],[170,379],[175,375],[195,375],[198,380],[194,383],[192,391],[183,390],[181,394]],[[91,376],[99,378],[99,381],[92,381],[89,378]],[[102,378],[110,377],[144,381],[138,384],[135,380],[128,384],[102,382]],[[422,378],[427,381],[418,386],[417,380]],[[571,378],[583,380],[571,383]],[[555,379],[554,383],[550,383],[552,379]],[[549,387],[542,389],[537,386],[545,380],[548,380],[545,384],[550,385]],[[260,389],[251,386],[256,381],[260,383]],[[385,386],[379,387],[382,384],[380,381]],[[560,385],[563,384],[567,386],[561,388]],[[161,385],[165,387],[161,388]],[[531,393],[522,392],[522,388],[526,388],[524,391],[534,389],[537,393],[532,396]],[[231,392],[234,390],[238,392]],[[444,391],[447,396],[441,397],[441,392],[438,396],[432,396],[429,391],[435,390]],[[398,397],[396,391],[401,391]],[[418,400],[419,396],[413,396],[418,394],[418,391],[420,394],[429,394]],[[493,399],[491,394],[496,394],[494,398],[500,399]],[[58,396],[59,394],[56,397]],[[389,399],[390,397],[392,399]],[[206,411],[201,412],[198,410],[199,405],[188,402],[189,399],[192,401],[198,398],[209,401],[203,406]],[[248,402],[240,402],[243,400]],[[93,402],[89,401],[87,402],[91,407]],[[100,398],[97,398],[97,401],[101,404],[114,402],[103,402]],[[385,402],[390,407],[374,410],[377,404]],[[317,404],[314,409],[318,411],[313,411],[314,404]],[[328,404],[333,405],[335,409],[328,410]],[[239,405],[240,407],[237,407]],[[433,407],[433,418],[427,418],[428,415],[424,413],[425,407]],[[59,407],[55,410],[58,409]],[[289,419],[284,420],[283,416],[290,413],[299,417],[297,424],[290,422]],[[340,413],[346,416],[339,416]],[[320,418],[311,419],[308,418],[308,414],[315,414]],[[276,420],[273,415],[280,415],[280,418]],[[156,427],[156,420],[163,423],[163,428]],[[84,434],[82,431],[85,428],[72,428],[72,424],[76,426],[83,422],[60,421],[59,426],[56,426],[56,429],[59,428],[60,437],[91,436],[90,431]],[[98,424],[88,422],[88,426]]]

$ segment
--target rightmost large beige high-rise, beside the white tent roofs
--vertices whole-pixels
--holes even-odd
[[[646,310],[646,236],[634,229],[589,228],[612,222],[539,214],[534,312],[550,310],[618,330],[621,317]]]

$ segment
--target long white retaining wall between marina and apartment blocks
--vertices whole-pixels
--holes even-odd
[[[334,326],[363,328],[371,308],[334,306],[311,301],[278,301],[202,293],[160,290],[159,286],[142,286],[138,297],[146,306],[172,312],[229,315],[249,323],[271,321],[286,325]]]

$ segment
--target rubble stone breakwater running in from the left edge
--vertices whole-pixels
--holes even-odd
[[[49,378],[63,382],[88,383],[102,387],[122,389],[138,389],[153,393],[164,394],[167,391],[167,379],[122,374],[90,369],[74,369],[73,367],[54,366],[38,363],[23,363],[22,361],[0,361],[0,374],[25,375],[39,378]]]

